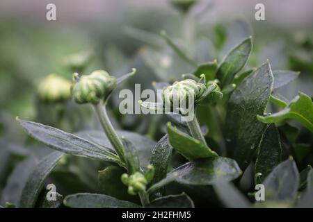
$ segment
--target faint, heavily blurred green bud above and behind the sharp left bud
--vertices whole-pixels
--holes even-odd
[[[73,72],[81,72],[87,67],[91,60],[91,53],[83,51],[66,56],[63,60],[64,64]]]

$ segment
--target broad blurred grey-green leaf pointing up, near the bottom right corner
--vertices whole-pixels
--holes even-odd
[[[300,177],[292,157],[278,164],[264,180],[265,200],[295,200]]]

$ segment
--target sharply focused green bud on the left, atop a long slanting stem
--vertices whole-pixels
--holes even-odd
[[[116,87],[116,79],[106,71],[93,71],[90,75],[73,75],[72,96],[77,103],[97,104],[106,99]]]

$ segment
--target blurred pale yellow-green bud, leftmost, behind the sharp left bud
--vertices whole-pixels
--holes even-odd
[[[49,74],[38,86],[38,97],[47,103],[70,99],[71,82],[56,74]]]

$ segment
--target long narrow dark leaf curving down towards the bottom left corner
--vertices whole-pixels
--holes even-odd
[[[35,201],[40,194],[45,178],[56,167],[56,163],[62,156],[63,153],[55,151],[36,164],[26,180],[18,207],[30,208],[35,206]]]

